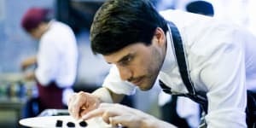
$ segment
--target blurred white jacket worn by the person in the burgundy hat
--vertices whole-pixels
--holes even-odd
[[[67,103],[70,87],[77,74],[78,48],[72,29],[58,21],[50,21],[49,30],[39,41],[38,67],[35,74],[38,82],[48,85],[55,82],[63,91],[63,103]]]

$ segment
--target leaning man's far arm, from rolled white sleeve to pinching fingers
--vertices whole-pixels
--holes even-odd
[[[132,95],[135,89],[133,85],[127,84],[119,78],[116,67],[111,68],[102,86],[92,94],[86,92],[74,94],[68,102],[69,113],[74,118],[80,119],[84,113],[98,108],[101,102],[120,102],[125,95]]]

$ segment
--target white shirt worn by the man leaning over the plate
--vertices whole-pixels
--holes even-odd
[[[256,38],[239,26],[204,15],[178,10],[160,12],[178,28],[187,57],[189,75],[196,91],[207,94],[207,127],[247,127],[247,89],[256,89]],[[188,93],[177,67],[170,31],[159,79],[174,94]],[[171,33],[172,34],[172,33]],[[103,86],[115,93],[130,95],[135,88],[121,81],[116,67]]]

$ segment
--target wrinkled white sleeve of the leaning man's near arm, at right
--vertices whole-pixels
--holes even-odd
[[[231,38],[213,48],[200,73],[201,81],[208,88],[208,128],[247,127],[244,44],[237,31],[231,34],[223,35]]]

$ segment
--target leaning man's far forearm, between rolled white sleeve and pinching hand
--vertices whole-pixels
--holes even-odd
[[[95,90],[92,95],[99,98],[101,102],[108,102],[108,103],[117,103],[121,102],[125,95],[120,95],[113,93],[113,91],[108,90],[105,87],[99,88]]]

